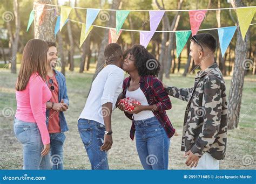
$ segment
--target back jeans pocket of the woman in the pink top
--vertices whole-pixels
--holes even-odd
[[[22,144],[28,143],[30,141],[30,126],[15,125],[14,133],[18,141],[20,141]]]

